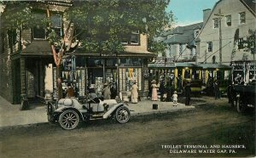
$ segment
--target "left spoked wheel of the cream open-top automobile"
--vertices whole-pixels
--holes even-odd
[[[63,129],[73,129],[79,125],[79,114],[74,110],[65,110],[59,117]]]

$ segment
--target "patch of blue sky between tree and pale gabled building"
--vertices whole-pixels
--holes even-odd
[[[203,10],[213,8],[218,0],[171,0],[166,11],[172,10],[176,25],[190,25],[203,20]]]

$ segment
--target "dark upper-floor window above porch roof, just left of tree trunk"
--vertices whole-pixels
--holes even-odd
[[[35,20],[42,22],[46,18],[46,14],[35,13]],[[45,39],[46,31],[42,24],[38,24],[32,28],[33,39]]]

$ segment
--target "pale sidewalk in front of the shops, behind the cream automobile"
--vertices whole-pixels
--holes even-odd
[[[158,110],[153,110],[153,104],[158,104]],[[137,104],[129,103],[131,116],[143,116],[157,113],[167,113],[179,110],[193,110],[195,106],[185,106],[172,102],[160,102],[142,100]],[[10,104],[0,96],[0,127],[12,127],[17,125],[29,125],[48,122],[46,107],[44,104],[30,104],[30,110],[20,110],[20,104]]]

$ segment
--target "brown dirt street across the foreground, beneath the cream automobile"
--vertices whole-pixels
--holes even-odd
[[[1,157],[255,155],[253,110],[241,114],[225,98],[203,99],[207,102],[196,105],[195,110],[134,116],[123,125],[115,121],[90,121],[81,122],[79,129],[72,131],[48,123],[3,128]],[[181,150],[185,147],[189,150]]]

